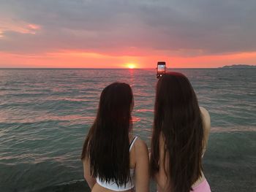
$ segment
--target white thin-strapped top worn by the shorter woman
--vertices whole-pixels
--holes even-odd
[[[132,149],[132,146],[134,145],[136,139],[138,137],[136,136],[131,144],[129,145],[129,151],[131,151]],[[109,182],[105,182],[105,181],[100,181],[99,178],[97,177],[96,178],[96,181],[97,183],[102,186],[103,188],[108,188],[110,190],[113,190],[113,191],[127,191],[131,188],[134,188],[135,186],[135,169],[129,169],[129,174],[131,175],[131,180],[129,180],[129,182],[125,185],[117,185],[116,182],[114,180],[110,180]]]

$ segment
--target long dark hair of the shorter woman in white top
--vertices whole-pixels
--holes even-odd
[[[132,89],[114,82],[101,93],[97,118],[83,144],[81,159],[90,159],[92,177],[117,185],[129,179],[129,131],[132,128]]]

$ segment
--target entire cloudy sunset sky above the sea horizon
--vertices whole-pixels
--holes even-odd
[[[0,0],[0,67],[256,65],[255,0]]]

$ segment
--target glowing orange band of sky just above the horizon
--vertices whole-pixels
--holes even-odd
[[[0,53],[1,67],[56,67],[56,68],[154,68],[157,61],[166,61],[169,68],[213,68],[232,64],[254,65],[255,53],[235,53],[229,55],[203,55],[178,57],[167,55],[111,56],[99,53],[62,52],[43,55],[20,55]]]

